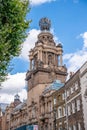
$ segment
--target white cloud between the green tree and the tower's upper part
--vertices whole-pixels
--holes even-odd
[[[40,33],[40,30],[32,29],[30,30],[28,37],[23,43],[22,51],[20,54],[20,58],[28,60],[29,51],[31,48],[35,46],[35,42],[37,41],[37,35]]]

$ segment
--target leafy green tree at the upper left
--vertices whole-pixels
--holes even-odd
[[[0,83],[8,74],[10,60],[20,54],[30,20],[29,0],[0,0]]]

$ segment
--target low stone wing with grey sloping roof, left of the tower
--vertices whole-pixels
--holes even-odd
[[[17,130],[21,126],[26,127],[27,122],[27,104],[26,101],[17,105],[12,111],[10,116],[11,130]],[[25,130],[25,129],[24,129]]]

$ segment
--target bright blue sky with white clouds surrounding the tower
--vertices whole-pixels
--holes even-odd
[[[68,72],[75,72],[87,59],[87,0],[32,0],[31,11],[27,14],[27,19],[32,19],[29,35],[23,43],[21,55],[11,61],[14,66],[8,80],[3,83],[1,102],[13,101],[16,93],[21,100],[27,97],[24,88],[25,74],[29,69],[28,52],[37,40],[40,32],[38,22],[42,17],[51,20],[54,39],[63,45]]]

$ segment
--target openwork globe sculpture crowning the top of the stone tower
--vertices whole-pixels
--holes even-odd
[[[42,18],[39,21],[41,31],[49,31],[51,27],[51,21],[48,18]]]

